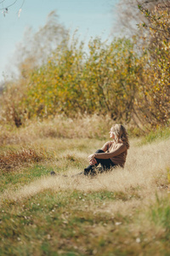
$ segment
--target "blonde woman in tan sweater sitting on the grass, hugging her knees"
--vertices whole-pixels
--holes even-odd
[[[111,170],[115,166],[124,167],[129,148],[127,131],[123,125],[116,124],[111,127],[109,133],[113,140],[88,156],[90,165],[84,169],[84,175],[96,174],[95,167],[99,164],[101,165],[100,172]]]

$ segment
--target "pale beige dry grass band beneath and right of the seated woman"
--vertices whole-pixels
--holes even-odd
[[[13,200],[21,200],[32,195],[36,195],[46,189],[52,189],[55,192],[64,190],[80,190],[88,193],[89,191],[108,190],[113,192],[122,192],[120,201],[113,202],[109,207],[105,207],[104,211],[124,211],[130,212],[133,208],[139,207],[141,203],[147,204],[155,198],[156,193],[166,191],[168,189],[167,168],[169,167],[169,140],[144,145],[142,147],[131,146],[127,155],[127,163],[125,168],[117,168],[110,173],[104,173],[94,178],[88,177],[42,177],[33,183],[26,185],[20,189],[15,195],[8,195]],[[35,160],[41,156],[31,154],[31,151],[23,151],[16,154],[20,160],[25,161],[25,154]],[[62,154],[59,154],[59,158]],[[74,151],[74,158],[83,158],[84,153]],[[60,162],[64,167],[65,160],[71,158],[70,154],[65,154],[65,159]],[[88,155],[87,155],[88,156]],[[74,160],[73,158],[73,160]],[[8,160],[8,157],[6,158]],[[59,163],[58,163],[59,164]],[[75,166],[68,167],[65,172],[68,176],[81,172]],[[123,195],[127,199],[123,201]]]

